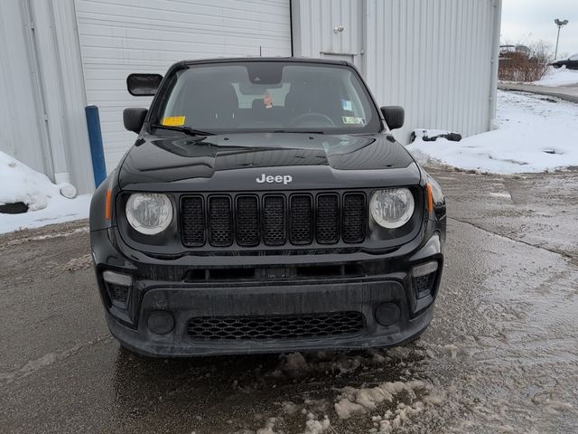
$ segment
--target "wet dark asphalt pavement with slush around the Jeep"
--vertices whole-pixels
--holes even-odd
[[[388,351],[145,359],[108,335],[87,222],[0,237],[0,432],[576,432],[578,173],[431,173],[443,289]]]

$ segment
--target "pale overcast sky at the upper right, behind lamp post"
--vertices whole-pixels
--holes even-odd
[[[545,40],[554,47],[555,18],[569,21],[560,31],[558,57],[578,52],[578,0],[502,0],[501,41]]]

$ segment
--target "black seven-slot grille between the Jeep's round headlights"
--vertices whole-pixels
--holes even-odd
[[[365,193],[185,195],[182,243],[187,247],[294,246],[359,243],[367,224]]]

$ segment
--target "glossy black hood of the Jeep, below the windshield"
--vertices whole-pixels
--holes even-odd
[[[290,185],[256,183],[264,174],[292,179]],[[406,149],[386,134],[179,135],[137,140],[118,180],[129,190],[247,191],[410,185],[419,184],[420,172]]]

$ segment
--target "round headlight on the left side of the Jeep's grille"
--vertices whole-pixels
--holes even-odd
[[[171,224],[171,200],[166,194],[133,193],[126,202],[126,220],[146,235],[160,233]]]

